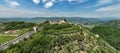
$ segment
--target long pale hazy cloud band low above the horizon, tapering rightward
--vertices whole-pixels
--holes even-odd
[[[25,9],[10,8],[0,6],[1,17],[95,17],[95,14],[83,14],[78,12],[63,12],[63,11],[33,11]],[[57,13],[56,13],[57,12]]]

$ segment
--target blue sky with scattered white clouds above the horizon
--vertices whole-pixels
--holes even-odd
[[[120,0],[0,0],[2,17],[120,17]]]

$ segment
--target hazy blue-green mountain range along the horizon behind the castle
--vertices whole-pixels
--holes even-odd
[[[69,22],[73,23],[100,23],[110,20],[120,20],[120,18],[84,18],[84,17],[35,17],[35,18],[0,18],[0,22],[10,22],[10,21],[25,21],[25,22],[34,22],[41,23],[46,20],[58,20],[58,19],[67,19]]]

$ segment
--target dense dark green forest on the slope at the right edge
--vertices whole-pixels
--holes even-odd
[[[120,28],[96,26],[91,31],[95,34],[99,34],[111,46],[120,50]]]

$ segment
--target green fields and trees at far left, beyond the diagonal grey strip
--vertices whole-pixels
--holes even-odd
[[[35,23],[20,21],[5,22],[0,24],[0,45],[32,30],[37,26]]]

